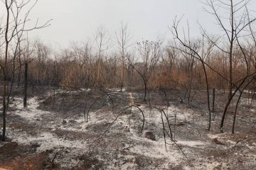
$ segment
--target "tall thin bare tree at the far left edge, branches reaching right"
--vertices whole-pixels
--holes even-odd
[[[49,21],[44,23],[41,26],[38,26],[38,21],[32,28],[25,28],[26,23],[29,21],[28,16],[31,13],[31,10],[36,5],[37,1],[16,1],[16,0],[5,0],[1,1],[4,3],[6,9],[6,19],[4,28],[4,64],[1,65],[4,73],[4,86],[3,86],[3,132],[2,132],[2,140],[5,140],[6,137],[6,112],[7,112],[7,105],[6,105],[6,92],[8,87],[8,60],[9,60],[9,45],[13,42],[14,38],[17,34],[28,32],[30,30],[35,30],[38,28],[44,28],[49,26]],[[29,5],[31,6],[29,7]],[[26,8],[28,7],[28,10]],[[25,13],[22,15],[21,13]],[[7,96],[8,97],[8,96]]]

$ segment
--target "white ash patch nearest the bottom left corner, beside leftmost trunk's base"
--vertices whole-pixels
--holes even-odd
[[[18,144],[21,145],[36,144],[38,145],[36,152],[46,152],[50,149],[54,149],[53,154],[56,152],[65,152],[65,157],[61,156],[61,158],[55,159],[55,163],[60,164],[60,168],[62,169],[70,169],[76,166],[79,163],[76,157],[82,154],[81,151],[85,151],[87,149],[87,143],[83,140],[65,140],[51,134],[50,132],[42,132],[38,136],[33,136],[24,132],[11,131],[12,132],[9,132],[9,137],[11,137],[12,141],[18,142]],[[54,157],[53,154],[51,159]],[[60,154],[63,155],[63,153]]]

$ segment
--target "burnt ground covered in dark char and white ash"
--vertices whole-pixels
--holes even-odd
[[[151,91],[144,102],[143,91],[51,90],[23,108],[17,94],[0,169],[256,169],[255,101],[243,96],[232,135],[235,102],[219,130],[226,94],[216,93],[210,132],[206,91],[193,92],[191,106],[182,96]]]

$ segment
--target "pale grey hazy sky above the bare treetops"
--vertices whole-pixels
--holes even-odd
[[[256,8],[255,4],[250,6]],[[134,41],[158,36],[167,40],[171,38],[168,26],[175,16],[183,15],[183,23],[188,20],[191,25],[191,34],[200,33],[197,21],[209,33],[215,33],[218,31],[213,23],[215,19],[203,6],[200,0],[39,0],[31,18],[40,18],[41,22],[52,18],[53,21],[50,27],[30,35],[66,47],[72,41],[92,39],[100,26],[114,37],[114,30],[124,22]]]

